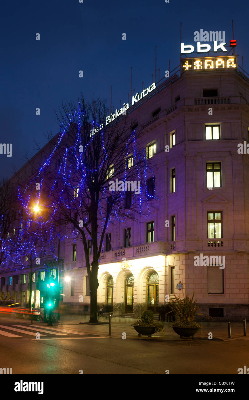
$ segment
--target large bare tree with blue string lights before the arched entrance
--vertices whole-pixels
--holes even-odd
[[[124,107],[119,118],[108,123],[106,104],[100,99],[89,103],[82,96],[77,106],[64,103],[57,114],[61,131],[50,140],[53,150],[48,154],[44,148],[45,161],[38,175],[21,193],[28,212],[30,193],[40,182],[35,201],[49,210],[47,227],[52,231],[53,224],[60,223],[71,236],[80,236],[90,284],[90,322],[98,321],[98,266],[108,224],[149,214],[147,172],[153,172],[142,137],[125,111]],[[38,221],[44,224],[42,216]],[[88,239],[92,240],[92,262]]]

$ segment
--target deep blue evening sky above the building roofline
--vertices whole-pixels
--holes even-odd
[[[63,100],[76,102],[82,92],[87,100],[93,95],[108,100],[109,106],[112,85],[112,104],[119,108],[130,92],[131,66],[135,93],[142,90],[142,81],[145,87],[151,84],[155,45],[160,78],[168,70],[169,58],[175,68],[180,22],[185,44],[196,46],[193,33],[203,29],[225,31],[229,46],[233,19],[235,54],[239,65],[244,56],[248,71],[248,9],[247,2],[231,0],[2,3],[0,143],[12,143],[13,155],[0,154],[0,179],[10,178],[25,163],[25,151],[30,157],[36,153],[34,139],[44,146],[44,134],[59,131],[54,110]]]

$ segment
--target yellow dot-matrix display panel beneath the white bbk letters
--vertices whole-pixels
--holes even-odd
[[[182,58],[182,72],[188,70],[220,70],[237,68],[237,56]]]

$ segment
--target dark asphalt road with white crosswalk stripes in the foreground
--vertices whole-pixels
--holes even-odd
[[[245,338],[123,340],[90,334],[82,325],[41,327],[4,318],[0,355],[0,368],[12,368],[13,374],[238,374],[249,366]]]

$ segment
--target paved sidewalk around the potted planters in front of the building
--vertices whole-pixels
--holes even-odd
[[[108,336],[109,325],[88,325],[88,324],[79,324],[80,322],[88,322],[90,316],[89,315],[64,315],[60,317],[59,326],[68,326],[68,325],[78,325],[81,327],[80,330],[84,330],[89,332],[90,334],[100,334],[103,336]],[[99,317],[99,322],[108,322],[108,317]],[[177,335],[173,328],[170,327],[170,322],[163,322],[165,334],[156,333],[151,336],[151,338],[147,338],[147,336],[137,336],[137,332],[131,324],[137,321],[137,318],[120,318],[120,317],[112,317],[112,337],[121,338],[126,334],[127,339],[139,339],[139,340],[192,340],[191,338],[180,339],[179,335]],[[158,321],[159,322],[159,321]],[[249,322],[247,322],[247,336],[243,336],[243,322],[231,322],[231,336],[232,338],[228,338],[228,328],[227,322],[201,322],[201,324],[205,327],[201,332],[197,332],[195,338],[198,340],[209,340],[208,337],[209,332],[213,334],[213,340],[233,340],[238,338],[243,338],[244,340],[249,339]]]

